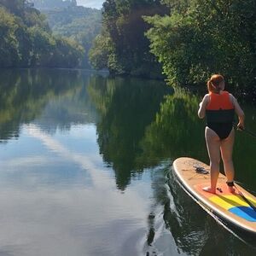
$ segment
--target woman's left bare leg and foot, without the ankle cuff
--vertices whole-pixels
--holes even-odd
[[[205,191],[210,193],[216,193],[216,185],[218,181],[219,174],[219,148],[220,148],[220,139],[215,131],[212,131],[209,127],[206,127],[205,131],[207,150],[210,158],[210,167],[211,167],[211,187],[203,188]]]

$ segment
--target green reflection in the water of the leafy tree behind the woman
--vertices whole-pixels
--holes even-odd
[[[160,160],[180,156],[189,156],[208,162],[207,148],[204,139],[205,120],[198,119],[200,96],[187,90],[176,90],[166,96],[161,103],[160,111],[154,121],[145,129],[145,136],[140,142],[143,153],[137,161],[148,166],[158,165]],[[256,131],[255,107],[241,102],[247,119],[249,131]],[[256,166],[256,140],[245,132],[236,131],[234,163],[236,180],[250,190],[256,188],[254,168]],[[223,172],[223,168],[221,169]],[[254,192],[255,193],[255,192]]]

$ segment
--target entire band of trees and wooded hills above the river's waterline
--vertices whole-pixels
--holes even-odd
[[[0,0],[0,67],[93,67],[193,90],[221,73],[236,96],[256,99],[254,0],[106,0],[90,10]]]

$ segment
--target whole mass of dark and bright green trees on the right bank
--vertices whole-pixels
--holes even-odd
[[[232,90],[256,95],[255,0],[107,0],[102,15],[94,67],[162,72],[182,87],[222,73]]]

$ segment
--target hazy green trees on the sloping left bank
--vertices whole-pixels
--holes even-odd
[[[52,35],[44,15],[25,0],[0,0],[0,67],[78,67],[84,49]]]

